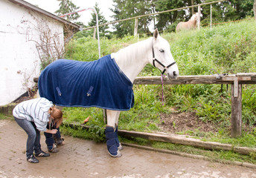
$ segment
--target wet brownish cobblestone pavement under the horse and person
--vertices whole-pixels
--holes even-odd
[[[41,133],[42,150],[46,151]],[[200,159],[145,151],[124,146],[123,156],[112,158],[104,143],[65,137],[60,152],[39,157],[32,164],[25,158],[27,135],[14,120],[0,119],[0,177],[245,177],[256,170]]]

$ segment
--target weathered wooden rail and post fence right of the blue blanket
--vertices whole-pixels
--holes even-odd
[[[161,76],[141,76],[133,82],[134,85],[161,85]],[[231,137],[242,133],[242,85],[256,84],[256,73],[237,73],[232,75],[211,76],[179,76],[177,79],[164,77],[163,85],[188,84],[227,84],[231,85]]]

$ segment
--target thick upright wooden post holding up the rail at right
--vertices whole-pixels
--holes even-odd
[[[234,85],[231,85],[231,137],[242,135],[242,85],[239,84],[238,95],[234,96]]]

